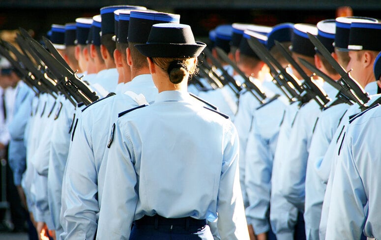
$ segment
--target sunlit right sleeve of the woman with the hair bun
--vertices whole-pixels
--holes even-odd
[[[235,127],[225,136],[224,159],[217,197],[218,232],[221,239],[248,240],[249,234],[239,183],[238,135]]]

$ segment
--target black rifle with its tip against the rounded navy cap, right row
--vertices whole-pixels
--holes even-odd
[[[293,57],[287,52],[285,47],[280,44],[278,41],[275,41],[275,45],[278,50],[281,52],[283,57],[286,58],[293,66],[293,68],[300,74],[300,76],[304,79],[303,89],[306,91],[306,94],[311,96],[321,108],[326,107],[326,104],[330,102],[331,99],[327,96],[325,91],[321,89],[318,85],[316,85],[309,77],[303,69],[299,66],[299,64],[293,59]]]

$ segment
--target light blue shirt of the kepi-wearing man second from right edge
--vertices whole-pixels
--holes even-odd
[[[376,94],[377,93],[377,84],[376,82],[369,83],[365,87],[365,91],[368,92],[368,94]],[[368,105],[372,104],[373,101],[375,101],[377,98],[380,97],[380,95],[370,95],[370,100],[367,103]],[[320,225],[319,225],[319,237],[320,239],[325,239],[325,231],[327,227],[327,218],[328,218],[328,212],[329,212],[329,206],[330,206],[330,200],[331,200],[331,187],[332,187],[332,180],[334,177],[334,169],[336,166],[336,161],[338,157],[338,151],[339,147],[341,145],[341,140],[344,136],[344,133],[346,131],[346,126],[349,123],[350,117],[354,116],[355,114],[358,114],[361,110],[359,109],[358,105],[352,105],[350,108],[348,108],[348,111],[343,117],[343,120],[340,122],[339,127],[337,128],[335,134],[333,135],[332,141],[328,146],[328,149],[322,159],[322,163],[318,166],[316,166],[316,171],[321,178],[322,182],[327,184],[324,194],[324,200],[323,200],[323,206],[322,206],[322,216],[320,218]]]

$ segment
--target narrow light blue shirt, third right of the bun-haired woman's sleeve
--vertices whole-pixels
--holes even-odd
[[[275,149],[270,196],[270,223],[277,240],[293,239],[298,210],[289,203],[280,192],[280,175],[283,171],[283,154],[289,147],[291,126],[299,110],[298,102],[287,106],[282,125],[279,129],[278,143]]]

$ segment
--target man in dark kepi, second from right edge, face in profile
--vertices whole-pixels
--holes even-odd
[[[353,22],[351,23],[350,37],[348,43],[350,61],[347,66],[347,70],[352,69],[351,76],[355,79],[360,86],[362,86],[370,98],[367,105],[372,104],[378,95],[377,84],[375,82],[375,76],[373,74],[373,64],[377,57],[377,54],[381,51],[381,47],[377,43],[369,42],[369,39],[380,34],[380,23],[371,22]],[[361,50],[359,50],[361,49]],[[357,80],[358,79],[358,80]],[[331,187],[335,174],[335,166],[337,162],[337,153],[339,152],[340,143],[345,136],[345,128],[349,123],[350,117],[359,113],[361,110],[357,105],[353,105],[344,115],[344,120],[337,128],[333,140],[331,141],[328,149],[322,159],[321,168],[325,169],[324,176],[327,176],[327,187],[325,190],[324,201],[322,206],[322,217],[320,221],[319,234],[320,238],[325,238],[325,232],[327,228],[328,212],[331,204]]]

